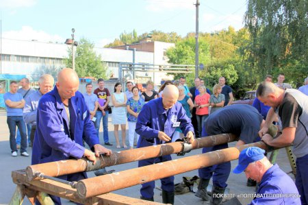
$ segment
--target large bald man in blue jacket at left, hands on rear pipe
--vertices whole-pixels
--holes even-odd
[[[53,91],[42,96],[38,103],[37,128],[34,137],[32,165],[69,158],[86,157],[96,162],[100,153],[110,155],[110,149],[99,144],[97,131],[90,121],[90,112],[79,93],[79,77],[73,69],[62,69],[57,75]],[[93,150],[85,149],[82,139]],[[59,178],[78,181],[87,178],[86,173],[73,173]],[[60,198],[51,196],[55,204]]]

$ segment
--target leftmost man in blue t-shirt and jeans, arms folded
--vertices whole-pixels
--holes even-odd
[[[23,107],[25,106],[25,100],[21,93],[17,93],[18,84],[16,81],[10,82],[10,92],[3,95],[6,112],[7,123],[10,130],[10,147],[12,156],[17,156],[16,145],[16,126],[21,132],[21,156],[29,156],[27,154],[27,131],[25,121],[23,120]]]

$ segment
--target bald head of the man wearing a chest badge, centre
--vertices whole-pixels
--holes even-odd
[[[175,85],[168,85],[162,93],[162,103],[165,109],[172,108],[179,98],[179,89]]]

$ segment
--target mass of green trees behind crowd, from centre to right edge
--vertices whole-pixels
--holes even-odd
[[[211,88],[224,76],[239,97],[257,87],[266,74],[285,73],[285,82],[293,86],[308,75],[308,1],[307,0],[248,0],[244,15],[245,27],[233,27],[212,33],[199,33],[199,63],[205,65],[199,77]],[[133,33],[130,34],[133,36]],[[137,36],[137,35],[135,35]],[[137,39],[175,43],[167,50],[169,63],[194,65],[195,36],[181,38],[176,33],[153,30]],[[125,40],[116,39],[109,46]],[[138,42],[136,41],[136,42]],[[125,43],[123,43],[124,45]],[[178,79],[181,74],[170,73]],[[184,73],[193,86],[194,73]]]

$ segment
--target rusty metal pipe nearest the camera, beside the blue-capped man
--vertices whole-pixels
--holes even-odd
[[[265,143],[257,142],[242,145],[240,147],[220,149],[205,154],[188,156],[177,160],[161,162],[155,165],[111,173],[105,176],[79,180],[79,182],[77,182],[77,193],[81,198],[92,197],[129,186],[144,184],[153,180],[174,176],[179,173],[209,167],[222,162],[229,162],[238,159],[240,151],[251,146],[261,147],[262,149],[267,150]]]

